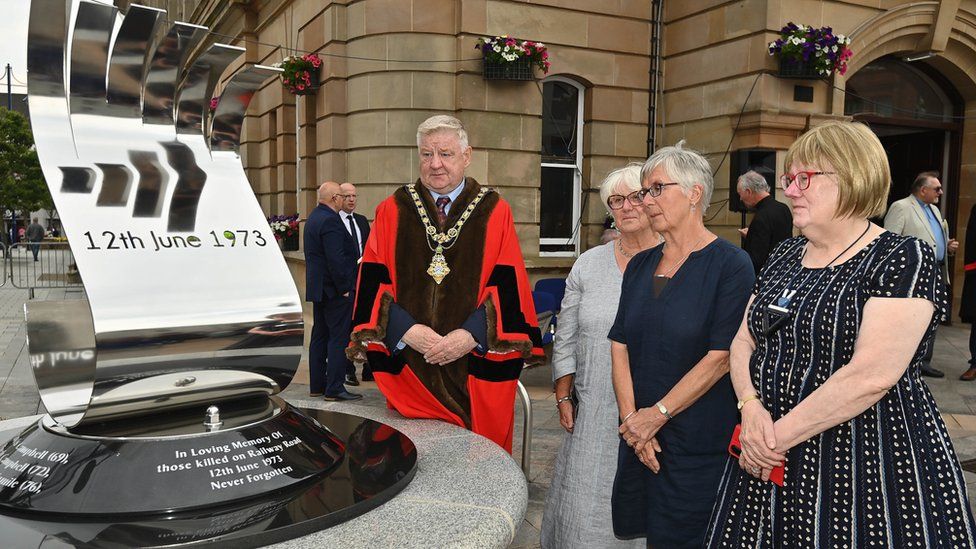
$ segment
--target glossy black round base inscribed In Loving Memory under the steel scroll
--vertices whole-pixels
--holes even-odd
[[[18,486],[4,488],[15,497],[6,497],[5,506],[0,507],[3,545],[253,547],[361,515],[402,490],[416,470],[417,452],[409,438],[383,423],[339,412],[283,404],[270,419],[224,431],[222,437],[214,435],[121,440],[67,436],[40,424],[20,433],[0,432],[0,443],[6,441],[2,455],[29,461],[24,474],[14,479]],[[40,440],[37,436],[55,437],[52,440],[58,445],[28,446],[33,444],[30,441]],[[247,444],[234,446],[227,439]],[[284,441],[296,440],[284,447]],[[313,440],[317,441],[314,448]],[[231,445],[229,451],[223,451],[224,444]],[[301,446],[305,447],[301,451],[288,452]],[[256,448],[264,450],[254,455],[247,450]],[[11,449],[13,453],[8,452]],[[190,455],[192,449],[200,449],[201,456]],[[177,452],[187,455],[177,457],[182,455]],[[31,454],[28,460],[26,456]],[[247,457],[233,457],[239,455]],[[221,463],[201,462],[198,466],[195,462],[217,456],[228,457],[228,463],[221,459]],[[274,456],[281,461],[265,461]],[[159,468],[162,463],[178,465],[188,460],[193,461],[192,468]],[[142,465],[126,466],[123,461]],[[260,467],[238,472],[236,465],[244,463]],[[6,465],[20,468],[24,463]],[[322,467],[317,475],[316,466]],[[124,473],[117,471],[119,467]],[[134,474],[140,467],[143,474]],[[292,470],[270,474],[286,467]],[[220,475],[213,476],[217,473]],[[2,468],[0,476],[9,480]],[[227,484],[211,484],[220,479]],[[33,491],[33,485],[25,489],[24,482],[41,486]],[[44,498],[34,501],[41,493]],[[79,496],[83,493],[87,497]],[[69,503],[57,503],[57,496]],[[140,511],[174,500],[179,505],[166,511]],[[70,511],[49,511],[56,507]]]

